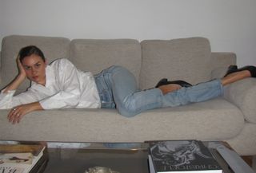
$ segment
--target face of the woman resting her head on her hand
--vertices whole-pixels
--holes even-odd
[[[24,57],[22,66],[25,69],[26,77],[41,85],[46,85],[46,62],[38,55]]]

